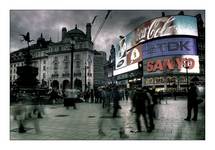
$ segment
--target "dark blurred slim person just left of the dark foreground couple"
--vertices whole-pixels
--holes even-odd
[[[121,109],[121,106],[119,105],[121,97],[117,86],[113,87],[112,94],[113,94],[113,118],[115,118],[117,117],[118,110]]]

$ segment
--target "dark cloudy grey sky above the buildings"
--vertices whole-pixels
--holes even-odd
[[[106,51],[109,54],[110,47],[115,43],[119,35],[126,35],[144,21],[161,16],[163,10],[113,10],[105,25],[98,35],[94,49]],[[176,15],[179,10],[165,10],[166,15]],[[185,15],[202,14],[205,20],[204,10],[186,10]],[[36,40],[41,33],[46,39],[52,38],[53,42],[61,39],[61,29],[66,27],[71,30],[78,28],[86,32],[86,23],[92,22],[94,16],[98,16],[92,26],[92,38],[101,25],[107,10],[11,10],[10,11],[10,50],[15,51],[25,47],[20,42],[19,34],[30,32],[31,38]]]

